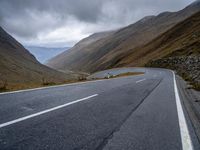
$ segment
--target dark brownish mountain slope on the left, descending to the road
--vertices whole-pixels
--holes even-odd
[[[40,64],[19,42],[0,27],[0,89],[21,89],[73,79]]]

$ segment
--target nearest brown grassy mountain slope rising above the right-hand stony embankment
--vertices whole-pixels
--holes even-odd
[[[114,66],[144,66],[166,57],[200,56],[200,11],[149,43],[134,48]]]

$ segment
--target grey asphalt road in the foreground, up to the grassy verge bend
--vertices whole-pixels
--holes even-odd
[[[143,70],[139,76],[0,94],[0,149],[199,149],[173,73]]]

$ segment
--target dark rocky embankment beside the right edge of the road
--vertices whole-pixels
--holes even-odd
[[[146,67],[175,70],[196,90],[200,90],[200,56],[174,56],[150,61]]]

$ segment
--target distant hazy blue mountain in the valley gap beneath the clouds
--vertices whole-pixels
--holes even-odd
[[[25,46],[39,62],[45,63],[50,58],[70,49],[70,47],[40,47],[40,46]]]

